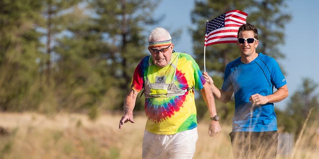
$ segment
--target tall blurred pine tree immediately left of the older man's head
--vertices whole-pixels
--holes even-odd
[[[115,109],[122,109],[124,96],[130,88],[135,67],[147,55],[146,26],[154,24],[152,12],[158,2],[152,0],[92,0],[95,10],[95,24],[104,43],[99,54],[106,63],[107,89],[115,94]],[[111,99],[110,99],[111,100]],[[140,101],[138,101],[140,102]],[[136,108],[143,108],[137,104]]]

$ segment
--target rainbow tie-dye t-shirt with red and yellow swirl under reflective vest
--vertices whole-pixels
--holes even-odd
[[[172,56],[177,56],[175,85],[181,89],[202,89],[205,79],[194,59],[185,53],[173,53]],[[143,58],[135,69],[131,88],[137,92],[143,89],[149,69],[165,69],[153,63],[149,65],[149,58],[152,57]],[[146,98],[145,112],[148,117],[146,130],[154,134],[170,135],[197,127],[193,90],[180,96]]]

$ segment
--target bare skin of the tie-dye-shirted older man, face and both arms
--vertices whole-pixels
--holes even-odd
[[[161,49],[164,49],[166,47],[167,46],[153,47],[152,49],[161,50]],[[161,68],[165,67],[170,61],[173,48],[174,48],[174,44],[171,44],[165,52],[155,53],[149,47],[149,51],[151,53],[154,64],[158,67],[161,67]],[[213,117],[217,114],[215,102],[214,102],[214,97],[213,97],[213,94],[210,90],[210,85],[206,82],[203,86],[204,86],[204,88],[201,89],[200,92],[204,98],[206,105],[207,105],[210,116]],[[139,92],[137,92],[133,89],[131,89],[130,92],[128,93],[128,95],[125,99],[124,115],[122,116],[122,118],[120,120],[119,129],[122,129],[123,125],[127,122],[135,123],[135,121],[133,120],[133,109],[135,107],[135,102],[136,102],[138,93]],[[221,127],[220,127],[219,122],[211,120],[209,123],[208,135],[210,137],[213,137],[220,131],[221,131]]]

